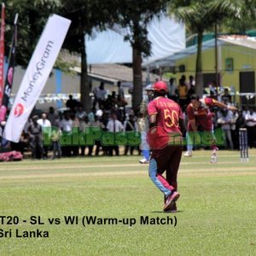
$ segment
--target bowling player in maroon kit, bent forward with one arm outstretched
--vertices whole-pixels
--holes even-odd
[[[207,137],[209,137],[209,143],[212,149],[212,159],[211,163],[217,162],[217,146],[216,141],[213,137],[212,130],[212,113],[210,111],[210,107],[218,107],[218,108],[226,108],[230,110],[236,110],[236,107],[227,106],[223,102],[218,102],[212,98],[204,98],[200,99],[199,96],[192,95],[190,97],[191,102],[187,107],[188,114],[188,129],[187,129],[187,149],[188,151],[184,154],[184,156],[192,156],[193,149],[193,132],[198,130],[198,127],[201,126],[204,132],[208,132]]]

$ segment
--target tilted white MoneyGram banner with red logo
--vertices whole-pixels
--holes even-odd
[[[38,97],[49,77],[61,45],[67,35],[71,20],[59,15],[51,15],[44,32],[34,50],[32,59],[20,84],[9,119],[3,131],[3,137],[18,143],[21,132],[32,112]]]

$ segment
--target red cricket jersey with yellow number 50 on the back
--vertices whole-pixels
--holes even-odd
[[[149,131],[151,148],[164,148],[170,137],[182,135],[178,119],[183,119],[183,112],[176,102],[166,97],[157,97],[148,104],[148,115],[152,114],[157,114],[157,130],[154,134]]]

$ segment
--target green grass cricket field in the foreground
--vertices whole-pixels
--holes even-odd
[[[162,212],[163,195],[138,156],[0,163],[0,215],[19,217],[16,225],[0,219],[12,232],[0,238],[0,255],[256,255],[256,150],[249,163],[236,151],[218,155],[213,165],[209,151],[182,159],[177,213]],[[68,215],[79,223],[65,224]],[[44,224],[30,224],[31,216]],[[84,216],[137,223],[84,227]],[[177,224],[140,224],[140,216]],[[49,238],[15,237],[16,229]]]

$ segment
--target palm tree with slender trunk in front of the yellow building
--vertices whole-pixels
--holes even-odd
[[[196,93],[201,96],[203,93],[202,78],[202,38],[203,33],[212,30],[215,24],[226,19],[241,19],[241,14],[248,14],[246,11],[248,1],[244,0],[172,0],[169,3],[170,14],[182,20],[189,31],[197,34],[197,56],[195,63],[195,84]]]

